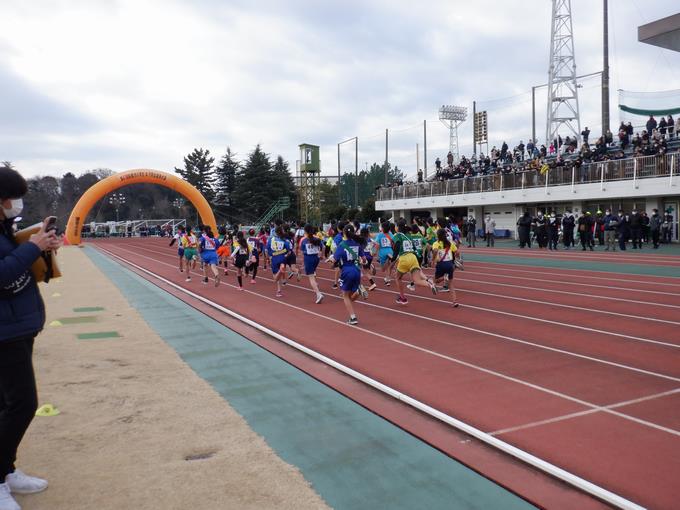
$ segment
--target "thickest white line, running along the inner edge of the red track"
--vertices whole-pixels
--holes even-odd
[[[391,388],[390,386],[382,384],[382,383],[376,381],[375,379],[372,379],[372,378],[362,374],[361,372],[358,372],[358,371],[353,370],[353,369],[351,369],[351,368],[349,368],[345,365],[342,365],[341,363],[338,363],[337,361],[333,360],[332,358],[329,358],[328,356],[325,356],[325,355],[323,355],[323,354],[321,354],[317,351],[314,351],[314,350],[312,350],[312,349],[310,349],[310,348],[308,348],[308,347],[306,347],[302,344],[299,344],[298,342],[295,342],[294,340],[291,340],[290,338],[287,338],[287,337],[285,337],[285,336],[283,336],[283,335],[281,335],[281,334],[279,334],[279,333],[277,333],[277,332],[275,332],[275,331],[273,331],[269,328],[266,328],[265,326],[262,326],[261,324],[254,322],[254,321],[248,319],[247,317],[244,317],[244,316],[242,316],[242,315],[240,315],[240,314],[238,314],[238,313],[236,313],[232,310],[229,310],[228,308],[225,308],[222,305],[219,305],[218,303],[210,301],[209,299],[206,299],[203,296],[200,296],[200,295],[198,295],[194,292],[186,290],[186,289],[180,287],[179,285],[171,282],[170,280],[167,280],[167,279],[165,279],[165,278],[163,278],[163,277],[161,277],[161,276],[159,276],[155,273],[152,273],[151,271],[149,271],[149,270],[147,270],[147,269],[145,269],[141,266],[138,266],[137,264],[134,264],[132,262],[125,260],[123,257],[120,257],[120,256],[118,256],[118,255],[116,255],[116,254],[114,254],[114,253],[112,253],[112,252],[110,252],[106,249],[102,249],[102,250],[109,253],[113,257],[116,257],[117,259],[123,261],[123,263],[129,264],[129,265],[137,268],[138,270],[143,271],[144,273],[147,273],[148,275],[164,282],[165,284],[170,285],[171,287],[173,287],[173,288],[175,288],[175,289],[177,289],[181,292],[184,292],[185,294],[190,295],[193,298],[198,299],[199,301],[201,301],[201,302],[203,302],[203,303],[205,303],[205,304],[207,304],[207,305],[209,305],[209,306],[211,306],[211,307],[213,307],[213,308],[215,308],[215,309],[217,309],[217,310],[219,310],[223,313],[226,313],[227,315],[229,315],[231,317],[234,317],[234,318],[240,320],[241,322],[244,322],[245,324],[248,324],[249,326],[258,329],[259,331],[266,333],[267,335],[269,335],[273,338],[276,338],[277,340],[279,340],[279,341],[281,341],[281,342],[283,342],[283,343],[285,343],[285,344],[307,354],[308,356],[311,356],[311,357],[313,357],[313,358],[335,368],[336,370],[338,370],[342,373],[345,373],[345,374],[349,375],[350,377],[353,377],[353,378],[357,379],[358,381],[363,382],[364,384],[367,384],[367,385],[371,386],[372,388],[375,388],[375,389],[385,393],[386,395],[389,395],[390,397],[392,397],[396,400],[404,402],[405,404],[410,405],[410,406],[414,407],[415,409],[418,409],[419,411],[421,411],[425,414],[428,414],[429,416],[432,416],[432,417],[434,417],[434,418],[436,418],[436,419],[438,419],[438,420],[440,420],[444,423],[447,423],[447,424],[453,426],[454,428],[456,428],[456,429],[458,429],[458,430],[460,430],[460,431],[462,431],[462,432],[464,432],[464,433],[466,433],[466,434],[468,434],[468,435],[470,435],[470,436],[472,436],[472,437],[474,437],[474,438],[476,438],[476,439],[478,439],[478,440],[480,440],[480,441],[482,441],[482,442],[484,442],[484,443],[486,443],[486,444],[488,444],[488,445],[490,445],[490,446],[492,446],[492,447],[494,447],[494,448],[496,448],[496,449],[498,449],[498,450],[500,450],[500,451],[502,451],[502,452],[504,452],[508,455],[511,455],[511,456],[521,460],[522,462],[524,462],[526,464],[529,464],[529,465],[531,465],[531,466],[533,466],[533,467],[535,467],[535,468],[537,468],[537,469],[539,469],[539,470],[541,470],[545,473],[550,474],[551,476],[554,476],[555,478],[558,478],[558,479],[560,479],[560,480],[562,480],[562,481],[564,481],[564,482],[566,482],[566,483],[568,483],[568,484],[570,484],[574,487],[577,487],[578,489],[580,489],[584,492],[587,492],[588,494],[592,494],[593,496],[595,496],[596,498],[598,498],[602,501],[605,501],[605,502],[607,502],[611,505],[614,505],[618,508],[622,508],[622,509],[625,509],[625,510],[644,510],[644,508],[641,507],[640,505],[638,505],[638,504],[636,504],[636,503],[634,503],[630,500],[627,500],[627,499],[625,499],[625,498],[623,498],[623,497],[621,497],[621,496],[619,496],[619,495],[617,495],[613,492],[610,492],[607,489],[604,489],[603,487],[595,485],[592,482],[589,482],[588,480],[585,480],[584,478],[581,478],[577,475],[574,475],[573,473],[570,473],[569,471],[566,471],[566,470],[564,470],[564,469],[562,469],[558,466],[555,466],[554,464],[546,462],[543,459],[536,457],[535,455],[532,455],[528,452],[525,452],[524,450],[521,450],[521,449],[519,449],[515,446],[512,446],[509,443],[506,443],[505,441],[501,441],[500,439],[497,439],[497,438],[495,438],[495,437],[493,437],[489,434],[486,434],[485,432],[483,432],[483,431],[481,431],[481,430],[479,430],[479,429],[477,429],[477,428],[475,428],[471,425],[468,425],[467,423],[465,423],[463,421],[460,421],[460,420],[458,420],[458,419],[456,419],[452,416],[449,416],[446,413],[443,413],[443,412],[441,412],[441,411],[439,411],[439,410],[437,410],[437,409],[435,409],[431,406],[428,406],[427,404],[420,402],[419,400],[416,400],[416,399],[414,399],[414,398],[412,398],[412,397],[410,397],[410,396],[408,396],[404,393],[401,393],[401,392],[395,390],[394,388]],[[148,258],[150,258],[150,257],[148,257]],[[163,262],[163,264],[165,264],[165,263]],[[170,265],[170,264],[167,264],[167,265]],[[247,291],[247,292],[251,293],[251,294],[255,294],[255,295],[260,296],[262,298],[269,299],[269,300],[274,301],[276,303],[281,303],[280,301],[274,300],[272,298],[267,298],[266,296],[262,296],[261,294],[257,294],[257,293],[252,292],[252,291]],[[294,308],[297,308],[297,307],[294,307]],[[313,315],[322,317],[322,318],[326,318],[322,315],[319,315],[319,314],[316,314],[316,313],[313,313],[313,312],[310,312],[310,313],[312,313]],[[326,318],[326,319],[328,319],[328,318]],[[333,320],[334,322],[340,322],[340,321],[336,321],[335,319],[329,319],[329,320]]]

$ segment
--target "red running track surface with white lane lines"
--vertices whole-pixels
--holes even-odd
[[[360,326],[350,328],[327,269],[318,273],[326,300],[314,305],[304,280],[274,298],[269,271],[248,292],[185,284],[163,240],[96,245],[638,504],[680,501],[680,279],[467,262],[456,273],[459,309],[422,291],[397,307],[381,288],[357,303]],[[475,457],[443,444],[441,427],[385,407],[373,409]],[[473,467],[534,502],[597,506],[549,482],[537,489],[535,476],[522,486],[516,466],[483,457]]]

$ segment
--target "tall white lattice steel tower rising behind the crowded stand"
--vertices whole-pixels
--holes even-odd
[[[573,134],[579,139],[581,118],[578,109],[571,0],[553,0],[548,74],[546,145],[556,139],[558,134]]]

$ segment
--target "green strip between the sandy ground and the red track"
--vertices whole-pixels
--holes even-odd
[[[332,507],[533,508],[96,250],[86,252],[146,322]]]

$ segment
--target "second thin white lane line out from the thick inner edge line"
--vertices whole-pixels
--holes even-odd
[[[152,257],[147,257],[147,256],[145,256],[145,255],[141,255],[141,254],[139,254],[139,253],[136,253],[136,252],[131,251],[131,250],[127,250],[127,249],[125,249],[125,248],[120,248],[120,249],[123,250],[123,251],[127,251],[128,253],[132,253],[132,254],[138,255],[138,256],[140,256],[140,257],[145,257],[145,258],[148,258],[148,259],[150,259],[150,260],[154,260],[154,261],[156,261],[156,262],[160,262],[160,263],[162,263],[162,264],[164,264],[164,265],[167,265],[167,266],[169,266],[169,267],[175,267],[175,266],[172,266],[171,264],[167,264],[166,262],[162,262],[162,261],[160,261],[160,260],[158,260],[158,259],[154,259],[154,258],[152,258]],[[144,248],[143,248],[143,249],[144,249]],[[161,256],[161,257],[167,257],[167,255],[162,254],[162,253],[158,253],[158,252],[155,252],[155,251],[152,251],[152,250],[147,250],[147,251],[151,251],[151,252],[154,253],[155,255],[158,255],[158,256]],[[261,278],[265,279],[264,277],[261,277]],[[272,281],[272,280],[270,280],[269,278],[266,278],[266,279],[267,279],[268,281]],[[302,287],[302,286],[299,286],[299,285],[294,285],[294,284],[292,284],[292,283],[288,283],[288,286],[289,286],[289,287],[292,287],[292,288],[303,289],[303,290],[308,291],[308,292],[313,292],[311,289],[309,289],[309,288],[307,288],[307,287]],[[328,295],[329,295],[329,296],[332,296],[332,297],[334,297],[334,298],[340,299],[338,296],[336,296],[336,295],[334,295],[334,294],[328,294]],[[501,339],[501,340],[505,340],[505,341],[509,341],[509,342],[513,342],[513,343],[517,343],[517,344],[521,344],[521,345],[528,345],[528,346],[530,346],[530,347],[535,347],[535,348],[537,348],[537,349],[542,349],[542,350],[546,350],[546,351],[551,351],[551,352],[555,352],[555,353],[558,353],[558,354],[562,354],[562,355],[566,355],[566,356],[571,356],[571,357],[574,357],[574,358],[584,359],[584,360],[586,360],[586,361],[591,361],[591,362],[594,362],[594,363],[600,363],[600,364],[603,364],[603,365],[613,366],[613,367],[615,367],[615,368],[621,368],[621,369],[624,369],[624,370],[629,370],[629,371],[631,371],[631,372],[637,372],[637,373],[640,373],[640,374],[649,375],[649,376],[652,376],[652,377],[658,377],[658,378],[660,378],[660,379],[666,379],[666,380],[673,381],[673,382],[680,382],[680,378],[674,377],[674,376],[671,376],[671,375],[666,375],[666,374],[661,374],[661,373],[657,373],[657,372],[652,372],[652,371],[650,371],[650,370],[645,370],[645,369],[643,369],[643,368],[637,368],[637,367],[633,367],[633,366],[630,366],[630,365],[624,365],[623,363],[617,363],[617,362],[614,362],[614,361],[604,360],[604,359],[601,359],[601,358],[595,358],[595,357],[593,357],[593,356],[588,356],[588,355],[586,355],[586,354],[580,354],[580,353],[577,353],[577,352],[568,351],[568,350],[560,349],[560,348],[557,348],[557,347],[550,347],[550,346],[548,346],[548,345],[538,344],[538,343],[535,343],[535,342],[530,342],[530,341],[528,341],[528,340],[522,340],[522,339],[520,339],[520,338],[511,337],[511,336],[507,336],[507,335],[502,335],[502,334],[500,334],[500,333],[493,333],[493,332],[491,332],[491,331],[484,331],[484,330],[481,330],[481,329],[473,328],[473,327],[471,327],[471,326],[464,326],[464,325],[462,325],[462,324],[456,324],[456,323],[454,323],[454,322],[449,322],[449,321],[445,321],[445,320],[442,320],[442,319],[435,319],[435,318],[433,318],[433,317],[427,317],[427,316],[424,316],[424,315],[418,315],[418,314],[415,314],[415,313],[406,312],[406,311],[404,311],[404,310],[398,310],[398,309],[396,309],[396,308],[388,308],[388,307],[386,307],[386,306],[377,305],[377,304],[370,303],[370,302],[367,302],[367,301],[357,301],[356,303],[361,304],[361,305],[363,305],[363,306],[368,306],[368,307],[371,307],[371,308],[378,308],[378,309],[380,309],[380,310],[386,310],[386,311],[388,311],[388,312],[392,312],[392,313],[396,313],[396,314],[400,314],[400,315],[406,315],[406,316],[409,316],[409,317],[415,317],[415,318],[417,318],[417,319],[422,319],[422,320],[434,322],[434,323],[437,323],[437,324],[443,324],[443,325],[445,325],[445,326],[449,326],[449,327],[453,327],[453,328],[458,328],[458,329],[463,329],[463,330],[466,330],[466,331],[471,331],[471,332],[473,332],[473,333],[479,333],[479,334],[481,334],[481,335],[486,335],[486,336],[490,336],[490,337],[494,337],[494,338],[499,338],[499,339]],[[447,304],[445,301],[441,301],[441,303],[444,304],[444,305]]]

